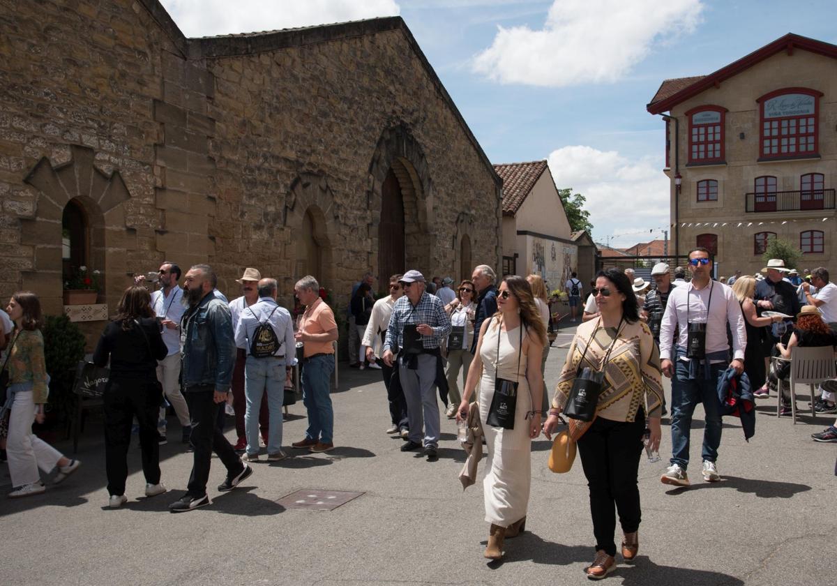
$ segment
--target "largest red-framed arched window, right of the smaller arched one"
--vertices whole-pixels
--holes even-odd
[[[763,158],[809,157],[819,150],[816,90],[784,88],[756,100],[761,112],[759,152]]]

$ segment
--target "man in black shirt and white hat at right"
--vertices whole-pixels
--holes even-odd
[[[790,269],[785,267],[784,260],[768,260],[768,265],[762,269],[762,272],[767,273],[768,278],[756,283],[756,292],[753,295],[758,316],[762,316],[764,311],[778,311],[787,316],[783,321],[774,323],[770,329],[770,335],[773,337],[771,353],[773,356],[778,356],[776,343],[788,344],[788,340],[793,333],[793,321],[795,319],[793,316],[799,313],[802,304],[796,294],[796,287],[783,278],[790,272]],[[765,368],[769,368],[770,357],[766,356],[764,360]],[[768,395],[767,383],[753,394],[756,397],[766,397]]]

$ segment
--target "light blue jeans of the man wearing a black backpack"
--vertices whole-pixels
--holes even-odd
[[[285,358],[247,357],[244,362],[244,430],[247,434],[247,453],[259,453],[259,409],[262,396],[267,393],[270,411],[267,453],[278,454],[282,449],[282,400],[285,398]]]

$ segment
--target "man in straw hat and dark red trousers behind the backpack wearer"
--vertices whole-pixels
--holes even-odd
[[[256,269],[247,267],[244,269],[244,275],[240,279],[236,279],[236,283],[241,284],[241,296],[236,297],[229,302],[229,312],[233,316],[233,332],[239,327],[241,315],[249,306],[254,305],[259,301],[259,280],[261,280],[261,273]],[[247,364],[247,347],[244,344],[236,343],[235,368],[233,371],[233,409],[235,409],[235,433],[238,440],[235,444],[235,451],[243,452],[247,448],[247,430],[244,424],[244,414],[247,412],[247,397],[244,393],[244,371]],[[258,414],[254,412],[254,416],[259,418],[259,427],[261,428],[261,437],[264,445],[268,443],[268,431],[270,425],[270,414],[267,403],[267,393],[264,393],[261,398],[260,408]],[[258,447],[258,446],[256,446]]]

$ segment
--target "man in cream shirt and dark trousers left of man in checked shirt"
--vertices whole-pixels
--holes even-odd
[[[389,326],[389,317],[393,315],[393,306],[395,301],[398,301],[400,296],[403,296],[404,290],[401,283],[402,275],[393,275],[389,278],[389,296],[382,297],[375,301],[372,306],[372,317],[369,318],[366,332],[363,332],[362,345],[367,348],[367,361],[370,365],[375,364],[375,357],[383,356],[383,341],[387,337],[387,327]],[[383,375],[383,385],[387,388],[387,399],[389,402],[389,417],[392,424],[387,428],[388,434],[398,434],[406,439],[409,435],[409,424],[407,420],[407,403],[404,401],[404,393],[398,387],[390,391],[389,381],[393,378],[393,367],[387,366],[386,362],[381,361],[381,374]]]

